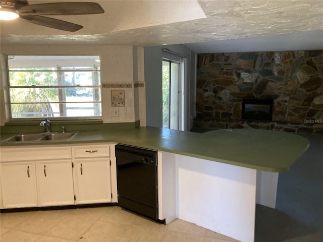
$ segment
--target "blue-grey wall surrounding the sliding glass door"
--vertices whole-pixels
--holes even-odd
[[[195,103],[192,106],[191,98],[195,97],[195,90],[191,90],[191,86],[195,86],[195,76],[191,72],[191,55],[190,49],[183,45],[165,45],[144,48],[144,73],[146,85],[146,124],[152,127],[163,127],[163,93],[162,93],[162,73],[161,65],[164,56],[163,48],[170,49],[176,53],[183,55],[186,58],[184,94],[186,98],[184,111],[184,130],[188,131],[193,124],[193,115],[195,115]],[[194,68],[195,69],[195,68]],[[194,71],[194,70],[193,70]],[[193,72],[194,73],[194,72]],[[190,120],[191,119],[191,120]]]

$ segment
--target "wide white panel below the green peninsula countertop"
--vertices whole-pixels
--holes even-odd
[[[254,240],[256,170],[176,155],[177,217]]]

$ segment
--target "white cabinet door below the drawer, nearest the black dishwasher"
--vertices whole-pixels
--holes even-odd
[[[111,202],[109,158],[76,159],[73,169],[77,204]]]

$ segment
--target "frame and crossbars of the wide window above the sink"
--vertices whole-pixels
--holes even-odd
[[[12,55],[12,54],[10,54]],[[10,68],[9,68],[9,61],[8,61],[8,56],[10,56],[9,54],[6,54],[5,57],[6,57],[6,63],[7,63],[7,88],[8,88],[8,95],[7,95],[7,102],[8,102],[8,114],[9,114],[9,118],[10,118],[10,122],[21,122],[21,121],[38,121],[38,120],[43,120],[44,118],[50,118],[51,120],[92,120],[92,121],[102,121],[103,120],[103,107],[102,107],[102,85],[101,85],[101,67],[99,65],[99,68],[97,70],[84,70],[84,69],[73,69],[73,70],[52,70],[52,71],[48,71],[48,72],[61,72],[61,73],[64,73],[64,72],[97,72],[98,73],[98,76],[99,76],[99,84],[98,85],[56,85],[56,86],[53,86],[53,85],[46,85],[46,86],[12,86],[10,84]],[[17,54],[17,56],[24,56],[22,54]],[[98,56],[100,58],[100,55],[99,54],[91,54],[91,55],[61,55],[61,54],[58,54],[58,55],[32,55],[32,54],[28,54],[28,55],[25,55],[25,56]],[[61,68],[64,68],[64,66],[61,66]],[[37,67],[35,67],[37,68]],[[41,68],[39,68],[41,69]],[[42,70],[39,70],[39,71],[42,71]],[[28,71],[25,71],[25,72],[28,72]],[[14,88],[32,88],[32,87],[35,87],[35,88],[56,88],[59,90],[64,90],[64,88],[97,88],[99,90],[99,95],[100,95],[100,98],[99,98],[99,101],[84,101],[84,102],[76,102],[76,103],[98,103],[100,105],[100,116],[43,116],[43,117],[13,117],[12,115],[12,104],[28,104],[28,102],[12,102],[11,101],[11,91],[10,89],[14,89]],[[63,89],[62,89],[63,88]],[[58,105],[66,105],[68,104],[69,102],[63,102],[61,101],[62,99],[60,99],[60,96],[62,94],[60,94],[60,91],[58,93],[58,97],[59,97],[59,100],[56,101],[56,102],[47,102],[47,103],[53,103],[53,104],[58,104]],[[37,102],[35,102],[37,103]],[[46,102],[39,102],[39,103],[46,103]],[[73,103],[73,102],[71,102]],[[94,107],[93,107],[94,108]],[[61,108],[59,108],[59,112],[61,113]],[[61,115],[61,114],[60,114]]]

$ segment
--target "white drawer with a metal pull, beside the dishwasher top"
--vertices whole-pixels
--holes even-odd
[[[109,145],[87,145],[72,147],[73,158],[110,157]]]

